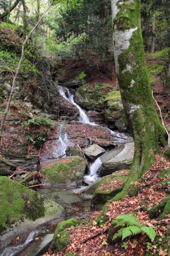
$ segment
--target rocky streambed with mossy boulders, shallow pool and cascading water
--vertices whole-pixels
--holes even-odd
[[[79,121],[61,123],[42,146],[44,186],[34,191],[7,177],[0,178],[1,256],[41,255],[57,223],[88,218],[93,208],[100,209],[123,189],[128,177],[132,138],[90,121],[68,89],[64,92],[60,88],[60,96],[78,110]],[[8,166],[8,162],[0,165],[1,170],[9,170],[6,175],[15,169],[15,164]]]

